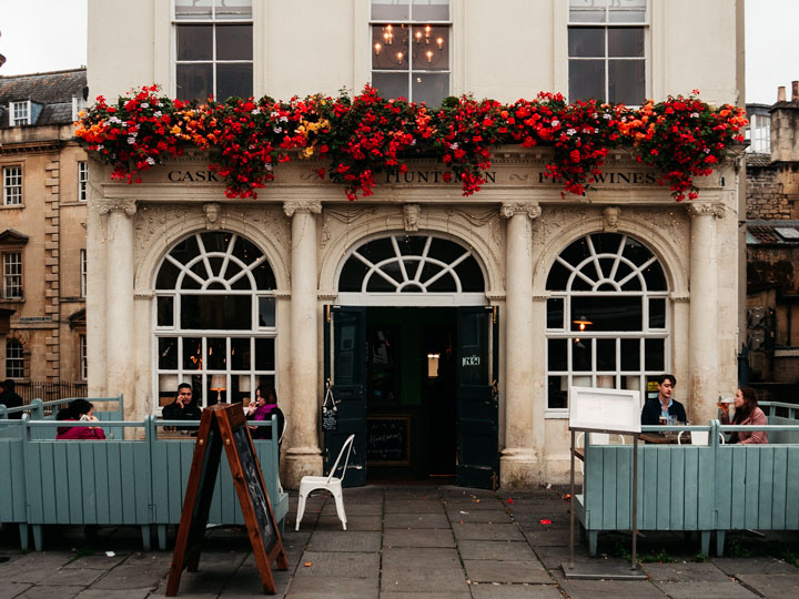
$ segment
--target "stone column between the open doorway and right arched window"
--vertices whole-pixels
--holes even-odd
[[[540,215],[535,203],[503,204],[507,219],[505,264],[505,449],[500,457],[503,488],[527,488],[539,478],[536,451],[533,355],[533,247],[530,221]]]

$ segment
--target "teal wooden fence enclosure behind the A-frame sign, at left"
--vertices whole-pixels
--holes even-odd
[[[45,525],[125,525],[141,527],[142,544],[151,546],[154,528],[159,548],[168,541],[168,526],[180,524],[185,486],[195,439],[191,436],[162,437],[163,427],[195,426],[198,423],[123,419],[123,399],[91,398],[97,405],[117,403],[117,408],[95,414],[107,440],[55,440],[55,429],[64,426],[45,412],[64,400],[34,400],[24,408],[22,419],[0,414],[0,478],[11,481],[0,487],[0,522],[17,524],[20,545],[29,547],[29,527],[36,550],[43,547]],[[52,405],[51,405],[52,404]],[[11,410],[9,410],[11,412]],[[77,426],[84,423],[73,423]],[[254,423],[271,426],[277,438],[276,419]],[[125,429],[138,429],[125,438]],[[113,433],[113,437],[108,433]],[[289,496],[280,487],[277,441],[253,441],[275,520],[283,530]],[[229,466],[220,466],[209,521],[243,526]]]

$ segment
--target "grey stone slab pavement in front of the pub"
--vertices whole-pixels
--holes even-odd
[[[290,568],[273,568],[287,599],[672,599],[799,597],[799,535],[728,535],[734,557],[704,559],[699,539],[641,537],[646,580],[575,580],[568,559],[568,500],[563,488],[526,493],[451,486],[372,485],[345,489],[347,530],[330,496],[309,498],[294,531],[296,494],[283,537]],[[16,527],[0,530],[0,599],[146,599],[163,597],[172,557],[141,551],[132,527],[87,539],[81,527],[49,527],[45,551],[22,554]],[[176,530],[170,530],[170,547]],[[629,565],[629,534],[599,537],[599,556],[577,546],[578,564]],[[787,559],[782,560],[779,557]],[[275,566],[275,565],[273,565]],[[262,595],[245,530],[210,528],[198,572],[184,571],[180,597]]]

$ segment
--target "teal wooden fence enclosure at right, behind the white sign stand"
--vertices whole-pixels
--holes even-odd
[[[641,438],[658,434],[674,441],[638,445],[638,530],[699,532],[705,555],[715,532],[718,556],[731,530],[799,530],[797,406],[761,405],[769,414],[762,427],[722,426],[718,420],[641,427]],[[724,443],[730,433],[746,429],[767,430],[769,443]],[[688,434],[694,443],[684,440]],[[589,439],[583,453],[584,485],[575,497],[575,514],[595,556],[599,532],[633,528],[633,446]]]

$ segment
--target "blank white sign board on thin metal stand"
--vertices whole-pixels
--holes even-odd
[[[640,433],[640,392],[569,387],[569,427]]]

